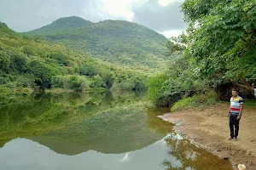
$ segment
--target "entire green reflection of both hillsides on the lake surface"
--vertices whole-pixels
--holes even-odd
[[[0,146],[18,137],[58,153],[122,153],[154,143],[140,94],[11,94],[0,97]]]

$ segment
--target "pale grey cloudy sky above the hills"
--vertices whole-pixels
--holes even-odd
[[[15,31],[32,31],[67,16],[85,20],[128,20],[166,37],[187,25],[180,13],[183,0],[0,0],[0,21]]]

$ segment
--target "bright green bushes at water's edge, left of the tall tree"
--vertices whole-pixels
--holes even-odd
[[[156,105],[170,105],[173,101],[195,92],[207,92],[207,81],[193,74],[193,65],[183,56],[173,59],[169,70],[148,79],[148,99]]]

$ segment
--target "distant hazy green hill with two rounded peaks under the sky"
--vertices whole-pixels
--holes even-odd
[[[61,42],[68,48],[90,53],[92,57],[137,69],[162,70],[166,60],[172,59],[166,56],[167,38],[145,26],[124,20],[86,22],[82,26],[76,21],[84,23],[85,20],[78,17],[61,18],[49,26],[26,32],[26,35]],[[78,26],[75,28],[68,23]]]

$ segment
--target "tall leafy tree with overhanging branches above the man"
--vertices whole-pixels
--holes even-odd
[[[256,82],[256,1],[185,0],[185,56],[195,73],[253,91]]]

